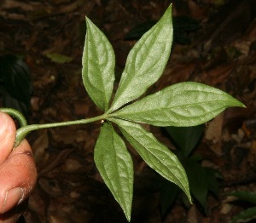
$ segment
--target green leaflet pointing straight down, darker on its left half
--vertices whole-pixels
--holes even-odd
[[[113,197],[131,220],[133,164],[125,142],[111,123],[103,123],[94,152],[96,167]]]

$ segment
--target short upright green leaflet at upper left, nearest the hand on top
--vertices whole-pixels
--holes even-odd
[[[113,91],[115,58],[107,37],[86,18],[87,33],[84,43],[82,77],[91,100],[103,111]]]

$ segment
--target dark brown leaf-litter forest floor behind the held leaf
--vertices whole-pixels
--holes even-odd
[[[189,17],[187,25],[191,26],[174,26],[174,33],[179,35],[175,36],[171,59],[151,90],[196,81],[223,89],[247,108],[229,108],[207,123],[194,152],[201,155],[203,166],[223,176],[218,197],[207,197],[207,213],[196,203],[185,206],[177,197],[163,216],[161,179],[131,150],[135,166],[131,222],[229,222],[247,204],[230,202],[227,192],[256,192],[255,1],[3,0],[0,54],[21,55],[30,69],[33,92],[29,123],[94,117],[101,111],[85,92],[81,78],[84,16],[113,44],[118,79],[137,41],[137,36],[127,37],[129,32],[159,20],[171,2],[174,17]],[[96,122],[44,129],[27,137],[38,167],[38,183],[24,214],[27,223],[126,222],[93,160],[100,126]],[[147,128],[175,150],[162,129]]]

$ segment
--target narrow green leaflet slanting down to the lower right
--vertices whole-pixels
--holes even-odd
[[[148,166],[179,186],[191,202],[187,175],[177,157],[141,125],[118,118],[110,118],[109,120],[119,125],[119,129],[125,135],[126,140],[143,157]]]

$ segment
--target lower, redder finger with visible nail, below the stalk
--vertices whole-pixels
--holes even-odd
[[[36,184],[37,170],[26,140],[0,165],[0,179],[0,214],[3,214],[22,203]]]

